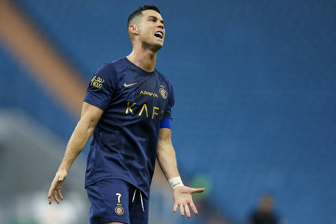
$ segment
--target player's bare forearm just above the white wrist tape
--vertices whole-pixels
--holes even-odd
[[[158,164],[167,179],[178,177],[178,164],[176,162],[176,154],[171,142],[158,142]]]

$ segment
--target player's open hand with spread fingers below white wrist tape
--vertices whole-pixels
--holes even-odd
[[[203,192],[204,188],[189,188],[187,186],[178,186],[173,188],[173,200],[174,200],[174,207],[173,212],[176,212],[178,206],[180,206],[181,216],[184,216],[184,210],[187,214],[187,217],[190,218],[190,210],[189,206],[193,210],[195,215],[198,214],[196,206],[193,204],[193,193],[200,193]],[[188,206],[189,205],[189,206]]]

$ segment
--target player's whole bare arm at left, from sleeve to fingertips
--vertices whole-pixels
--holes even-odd
[[[80,154],[84,149],[88,139],[93,134],[95,127],[104,113],[103,110],[91,105],[89,103],[83,103],[82,114],[80,116],[80,121],[78,121],[73,134],[68,142],[67,149],[65,150],[63,160],[58,168],[58,171],[53,178],[51,183],[48,201],[51,204],[51,196],[57,203],[60,203],[60,199],[63,199],[62,193],[60,192],[60,186],[62,186],[65,177],[67,177],[67,172],[75,158]]]

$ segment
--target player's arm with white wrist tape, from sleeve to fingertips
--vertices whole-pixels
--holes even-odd
[[[180,174],[178,173],[178,165],[176,162],[176,154],[171,143],[171,129],[160,128],[158,134],[158,164],[165,174],[173,190],[173,212],[176,212],[180,206],[181,216],[184,216],[184,210],[187,217],[190,218],[189,206],[194,214],[198,214],[196,206],[193,204],[192,194],[195,192],[203,192],[204,188],[189,188],[182,184]]]

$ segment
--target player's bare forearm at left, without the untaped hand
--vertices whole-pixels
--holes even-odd
[[[95,127],[91,127],[90,123],[86,121],[79,121],[71,138],[68,142],[67,149],[65,150],[62,163],[60,164],[59,170],[68,171],[75,158],[84,149],[88,139],[91,137]]]

